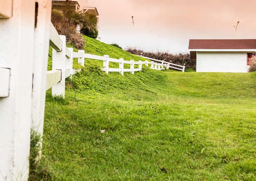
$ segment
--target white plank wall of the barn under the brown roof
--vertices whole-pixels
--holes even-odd
[[[196,72],[247,72],[245,51],[197,51]]]

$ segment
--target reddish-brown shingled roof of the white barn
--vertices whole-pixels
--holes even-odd
[[[189,40],[189,49],[256,49],[256,39]]]

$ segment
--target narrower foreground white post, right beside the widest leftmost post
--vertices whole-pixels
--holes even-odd
[[[51,11],[51,0],[38,0],[38,15],[34,34],[31,129],[40,136],[43,136]],[[42,141],[38,144],[42,146]]]

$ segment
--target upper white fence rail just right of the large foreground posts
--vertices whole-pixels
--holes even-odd
[[[50,38],[49,39],[50,39],[50,46],[52,48],[54,48],[56,51],[62,51],[61,38],[52,23],[50,24]]]

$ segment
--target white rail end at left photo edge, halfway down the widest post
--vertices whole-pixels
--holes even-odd
[[[0,98],[9,96],[11,70],[0,68]]]

